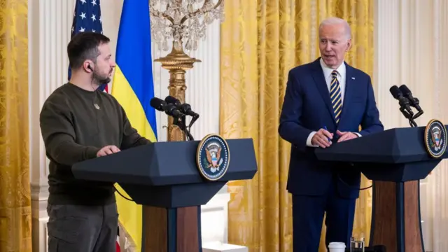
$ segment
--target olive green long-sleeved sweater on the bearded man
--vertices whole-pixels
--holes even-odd
[[[66,83],[43,104],[41,133],[50,159],[49,204],[110,204],[113,183],[81,181],[71,165],[90,158],[104,146],[125,150],[151,143],[131,127],[123,108],[105,92],[87,91]]]

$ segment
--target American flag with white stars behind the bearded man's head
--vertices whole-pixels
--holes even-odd
[[[83,31],[103,34],[99,0],[76,0],[75,11],[73,12],[73,24],[71,25],[71,37]],[[69,66],[69,79],[70,76],[71,69]],[[108,92],[107,85],[103,86],[104,91]]]

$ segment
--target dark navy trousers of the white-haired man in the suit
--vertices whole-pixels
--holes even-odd
[[[293,195],[293,252],[318,252],[325,213],[326,246],[339,241],[349,248],[355,203],[339,197],[335,183],[323,196]]]

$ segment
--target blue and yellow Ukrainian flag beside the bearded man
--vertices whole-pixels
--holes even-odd
[[[123,106],[127,117],[141,136],[157,141],[155,110],[150,106],[154,97],[151,63],[151,30],[148,1],[124,1],[118,31],[116,69],[112,95]],[[120,193],[129,197],[118,185]],[[141,206],[116,193],[119,221],[141,251]],[[120,234],[121,235],[121,234]]]

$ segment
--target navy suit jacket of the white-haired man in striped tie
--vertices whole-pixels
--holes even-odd
[[[344,103],[339,124],[336,124],[319,60],[297,66],[288,74],[279,125],[281,138],[292,144],[287,189],[293,195],[323,195],[331,180],[336,179],[339,195],[357,198],[360,172],[350,169],[348,163],[318,161],[314,155],[316,148],[307,147],[306,143],[311,132],[324,126],[334,134],[332,144],[337,144],[336,130],[358,132],[361,137],[383,131],[372,83],[367,73],[344,62]]]

